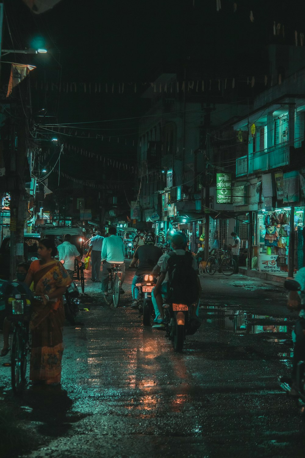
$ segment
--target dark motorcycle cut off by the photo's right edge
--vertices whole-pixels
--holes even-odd
[[[300,291],[301,296],[305,295],[305,291],[301,290],[300,284],[295,280],[285,280],[284,288],[288,289],[289,291]],[[304,308],[304,305],[302,308]],[[304,320],[304,318],[298,318],[297,322],[295,323],[294,330],[297,327],[298,322],[300,324],[300,320]],[[303,329],[304,326],[302,326],[301,329],[301,334],[304,338]],[[298,362],[296,367],[296,377],[294,380],[287,376],[280,376],[278,377],[278,384],[288,394],[297,398],[300,414],[305,415],[305,361]]]

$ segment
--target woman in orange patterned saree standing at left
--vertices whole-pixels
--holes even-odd
[[[71,279],[63,265],[55,261],[57,249],[51,239],[38,243],[41,259],[30,265],[25,283],[34,282],[34,294],[41,296],[33,304],[30,321],[32,334],[30,379],[32,383],[59,385],[61,360],[64,351],[62,327],[64,323],[63,294]]]

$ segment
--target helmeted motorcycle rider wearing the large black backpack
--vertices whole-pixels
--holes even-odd
[[[199,309],[199,303],[200,303],[200,293],[201,293],[201,285],[200,285],[200,280],[198,277],[198,266],[195,258],[193,255],[190,254],[190,252],[187,250],[187,236],[183,234],[182,232],[176,232],[172,237],[171,237],[171,249],[172,251],[177,255],[177,256],[192,256],[192,266],[190,267],[195,271],[197,274],[196,280],[197,280],[197,293],[198,293],[198,304],[197,307],[193,307],[192,311],[192,320],[191,320],[191,325],[194,327],[199,327],[201,324],[201,321],[198,318],[198,309]],[[153,326],[154,328],[162,328],[164,327],[164,316],[163,316],[163,300],[162,296],[166,297],[168,294],[170,294],[170,289],[173,285],[171,285],[170,280],[169,280],[169,264],[168,261],[171,258],[170,253],[164,253],[161,258],[159,259],[157,265],[153,269],[153,274],[157,274],[158,270],[161,272],[160,276],[158,278],[157,284],[155,285],[155,288],[152,291],[151,298],[152,298],[152,303],[155,308],[155,322],[156,324]],[[187,258],[186,258],[187,261]],[[187,276],[186,276],[187,277]],[[185,288],[187,289],[188,285],[185,285]]]

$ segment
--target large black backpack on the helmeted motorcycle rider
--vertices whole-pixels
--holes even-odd
[[[198,300],[198,279],[194,271],[193,256],[189,251],[185,255],[169,254],[168,263],[168,300],[179,304],[193,304]]]

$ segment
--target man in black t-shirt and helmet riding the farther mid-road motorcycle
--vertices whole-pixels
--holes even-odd
[[[138,246],[134,253],[134,257],[130,262],[129,268],[135,267],[136,263],[139,261],[137,271],[134,275],[134,279],[131,284],[131,293],[134,299],[131,307],[136,309],[138,308],[138,294],[139,289],[135,286],[136,283],[139,283],[140,278],[145,273],[151,273],[152,268],[158,262],[158,259],[162,255],[161,248],[155,246],[155,234],[153,232],[147,232],[144,236],[144,245]]]

